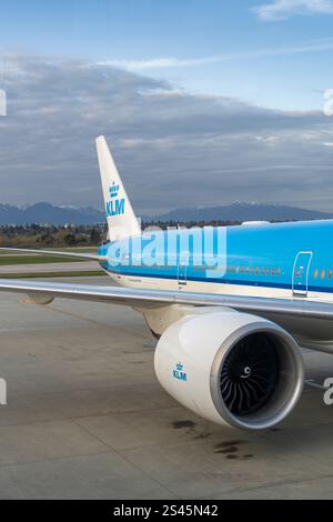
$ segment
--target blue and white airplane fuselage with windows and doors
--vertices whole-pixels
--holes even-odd
[[[219,231],[225,234],[226,249],[216,252]],[[112,243],[102,245],[102,268],[121,284],[140,288],[161,288],[195,292],[218,292],[256,297],[300,297],[310,300],[333,300],[333,252],[329,239],[333,235],[333,221],[310,221],[278,224],[244,224],[213,229],[214,242],[205,255],[220,255],[216,267],[204,260],[198,263],[195,241],[190,239],[184,259],[182,234],[173,232],[170,252],[170,232],[157,232],[161,245],[151,263],[151,234],[142,234],[142,255],[127,240],[119,241],[120,250]],[[111,252],[112,250],[112,252]],[[134,251],[135,250],[135,251]],[[174,262],[170,263],[170,255]],[[149,259],[148,259],[149,257]],[[117,258],[117,259],[115,259]],[[139,261],[139,262],[138,262]]]

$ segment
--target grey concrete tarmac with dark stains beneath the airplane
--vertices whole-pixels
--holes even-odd
[[[0,293],[0,499],[333,496],[333,406],[322,391],[306,388],[273,430],[223,429],[161,389],[140,314],[24,299]],[[304,358],[307,377],[333,377],[333,357]]]

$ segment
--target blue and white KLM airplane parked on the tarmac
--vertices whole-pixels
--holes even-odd
[[[108,241],[95,254],[23,251],[97,260],[117,285],[0,280],[0,290],[44,305],[131,307],[158,339],[155,374],[179,403],[224,426],[275,426],[301,398],[302,349],[333,352],[333,221],[141,231],[104,137],[97,151]]]

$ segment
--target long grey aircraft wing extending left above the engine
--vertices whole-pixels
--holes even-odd
[[[302,299],[269,299],[243,295],[141,290],[90,284],[54,283],[41,281],[0,280],[0,291],[26,293],[36,302],[47,304],[54,298],[125,304],[132,308],[155,308],[167,304],[193,307],[228,307],[271,318],[287,315],[301,319],[332,320],[333,303],[319,303]]]

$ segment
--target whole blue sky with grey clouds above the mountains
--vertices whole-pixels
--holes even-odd
[[[333,0],[0,0],[0,203],[101,208],[104,133],[138,213],[333,212],[332,28]]]

